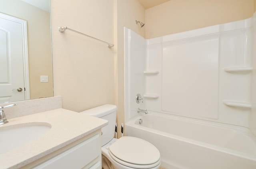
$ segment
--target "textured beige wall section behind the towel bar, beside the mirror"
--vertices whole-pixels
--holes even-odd
[[[59,26],[114,43],[113,0],[51,1],[54,96],[80,112],[114,104],[114,49]]]

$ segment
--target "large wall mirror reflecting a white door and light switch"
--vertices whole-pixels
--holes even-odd
[[[50,0],[0,4],[0,103],[53,96]]]

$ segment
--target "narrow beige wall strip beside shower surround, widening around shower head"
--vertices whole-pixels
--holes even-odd
[[[145,22],[145,9],[137,0],[114,0],[115,2],[115,52],[116,66],[116,104],[118,106],[118,137],[120,137],[121,123],[124,123],[124,27],[132,29],[145,37],[145,27],[136,25],[136,20]]]

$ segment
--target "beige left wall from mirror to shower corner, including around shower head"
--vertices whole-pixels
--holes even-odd
[[[137,0],[51,2],[54,96],[80,112],[102,104],[118,106],[118,137],[124,123],[124,26],[145,36],[145,10]],[[132,11],[132,12],[131,12]],[[113,43],[105,44],[57,28],[67,26]]]

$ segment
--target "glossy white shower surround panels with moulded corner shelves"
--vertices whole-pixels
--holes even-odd
[[[125,122],[140,108],[249,127],[252,24],[249,18],[154,39],[124,28]],[[137,93],[144,103],[136,103]]]

